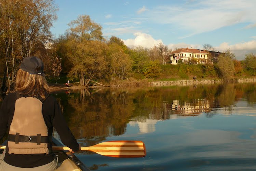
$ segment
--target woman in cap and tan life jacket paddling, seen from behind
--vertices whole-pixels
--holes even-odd
[[[4,98],[0,108],[0,140],[9,129],[6,152],[0,155],[0,170],[55,170],[58,156],[52,153],[53,127],[70,152],[79,150],[58,102],[49,93],[42,61],[24,58],[14,92]]]

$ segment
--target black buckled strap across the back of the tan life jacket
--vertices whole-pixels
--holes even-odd
[[[32,142],[40,145],[40,143],[50,143],[52,142],[51,140],[52,136],[41,136],[41,134],[37,134],[37,136],[24,136],[19,133],[8,135],[8,141],[13,141],[15,144],[19,142]]]

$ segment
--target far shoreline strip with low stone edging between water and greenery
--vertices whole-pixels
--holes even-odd
[[[193,84],[216,84],[216,83],[223,83],[224,81],[222,79],[207,79],[207,80],[179,80],[179,81],[156,81],[156,82],[148,82],[147,84],[143,85],[150,85],[150,86],[164,86],[164,85],[193,85]],[[256,82],[256,78],[253,79],[231,79],[228,81],[229,83],[244,83],[244,82]],[[125,87],[125,86],[131,86],[131,85],[108,85],[108,86],[91,86],[89,88],[102,88],[102,87]],[[71,86],[66,87],[65,84],[49,84],[49,87],[51,90],[66,90],[66,89],[83,89],[86,87],[83,86]]]

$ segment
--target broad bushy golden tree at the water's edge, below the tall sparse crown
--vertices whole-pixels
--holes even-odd
[[[81,86],[87,86],[94,78],[105,76],[107,70],[107,45],[100,41],[70,41],[67,46],[71,49],[67,56],[72,68],[68,73],[71,79],[78,78]]]

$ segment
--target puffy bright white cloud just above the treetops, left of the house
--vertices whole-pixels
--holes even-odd
[[[142,33],[142,32],[136,32],[134,33],[135,39],[127,39],[123,40],[124,44],[131,47],[131,46],[143,46],[143,47],[153,47],[154,45],[157,45],[158,43],[162,42],[162,40],[155,40],[152,38],[151,35]]]

